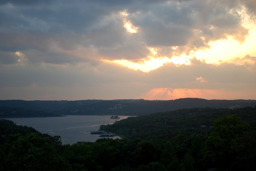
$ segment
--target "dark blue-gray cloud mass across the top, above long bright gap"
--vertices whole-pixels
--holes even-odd
[[[174,53],[171,47],[179,46],[176,54],[188,54],[195,48],[209,47],[209,41],[227,36],[242,43],[248,30],[241,25],[241,16],[232,10],[240,1],[232,2],[1,1],[0,49],[41,51],[38,57],[46,59],[33,61],[54,64],[56,61],[59,64],[94,63],[102,57],[139,61],[147,57],[147,47],[165,48],[168,53],[163,54],[171,58]],[[241,2],[254,8],[255,3],[251,1]],[[120,11],[127,11],[129,15],[124,18]],[[127,32],[124,19],[138,28],[137,33]],[[93,48],[94,56],[84,55],[82,60],[84,52],[80,57],[75,53],[81,47]],[[56,60],[49,60],[48,54],[57,53]],[[63,62],[57,56],[63,56]]]

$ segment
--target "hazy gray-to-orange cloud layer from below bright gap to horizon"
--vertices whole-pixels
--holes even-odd
[[[245,59],[255,59],[255,57],[246,56]],[[224,89],[229,90],[230,94],[245,90],[254,92],[253,89],[256,86],[255,64],[248,63],[250,68],[253,68],[249,70],[244,65],[232,63],[213,65],[195,58],[193,60],[191,65],[166,64],[148,73],[110,63],[101,63],[97,66],[90,64],[76,66],[68,64],[9,64],[0,67],[0,89],[2,91],[5,89],[18,91],[21,88],[30,93],[38,89],[38,93],[36,93],[39,94],[38,97],[42,97],[45,94],[44,91],[49,93],[56,90],[65,95],[67,93],[64,90],[71,91],[73,89],[71,92],[74,93],[74,97],[79,95],[79,99],[84,99],[84,97],[86,99],[122,99],[124,97],[175,99],[179,95],[178,92],[180,92],[180,97],[195,95],[195,97],[202,98],[205,92],[207,94],[205,97],[210,98],[210,94],[213,93],[212,97],[221,98],[220,95],[216,96],[214,93],[220,93]],[[33,86],[32,89],[31,86],[34,84],[37,86]],[[57,90],[58,87],[59,90]],[[173,92],[176,94],[173,95]],[[197,92],[200,93],[200,96],[196,95]],[[72,95],[70,94],[70,96]],[[148,98],[146,98],[147,96]],[[52,99],[54,97],[53,93]],[[2,96],[2,98],[6,99],[8,95]]]

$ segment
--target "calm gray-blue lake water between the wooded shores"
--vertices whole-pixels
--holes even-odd
[[[129,116],[119,116],[126,119]],[[79,141],[95,142],[99,138],[98,134],[91,134],[96,131],[102,124],[113,124],[115,119],[110,116],[86,115],[86,116],[65,116],[65,117],[46,117],[46,118],[8,118],[8,120],[16,122],[17,125],[31,126],[41,133],[47,133],[51,136],[61,136],[62,144],[73,144]],[[111,137],[113,139],[119,136]]]

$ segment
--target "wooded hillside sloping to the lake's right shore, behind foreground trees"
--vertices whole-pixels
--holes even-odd
[[[256,130],[256,107],[236,109],[195,107],[157,112],[129,117],[111,125],[101,125],[100,130],[110,131],[129,139],[169,140],[179,134],[210,135],[214,121],[227,115],[238,115],[241,121],[249,124],[252,130]]]

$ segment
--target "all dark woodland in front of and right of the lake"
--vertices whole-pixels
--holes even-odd
[[[122,139],[65,145],[1,120],[0,170],[255,170],[255,117],[252,107],[159,112],[101,125],[122,130]]]

